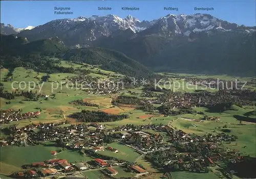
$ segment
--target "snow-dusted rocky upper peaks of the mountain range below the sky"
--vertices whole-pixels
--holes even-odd
[[[9,24],[7,27],[17,33],[19,32]],[[220,32],[244,30],[248,33],[255,31],[254,28],[229,23],[209,14],[168,14],[152,21],[140,21],[131,15],[125,18],[120,18],[113,14],[106,16],[93,15],[88,18],[80,16],[74,19],[52,20],[30,30],[21,31],[18,33],[18,36],[27,37],[29,41],[57,36],[66,45],[92,45],[92,41],[100,37],[109,37],[116,34],[116,31],[125,30],[130,30],[134,34],[157,34],[163,37],[189,36],[191,33],[211,32],[212,30]]]

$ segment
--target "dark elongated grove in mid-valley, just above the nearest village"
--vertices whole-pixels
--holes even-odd
[[[82,110],[81,112],[71,114],[69,117],[75,118],[83,122],[112,122],[112,121],[129,118],[129,115],[128,114],[115,115],[115,114],[107,114],[102,111]]]

